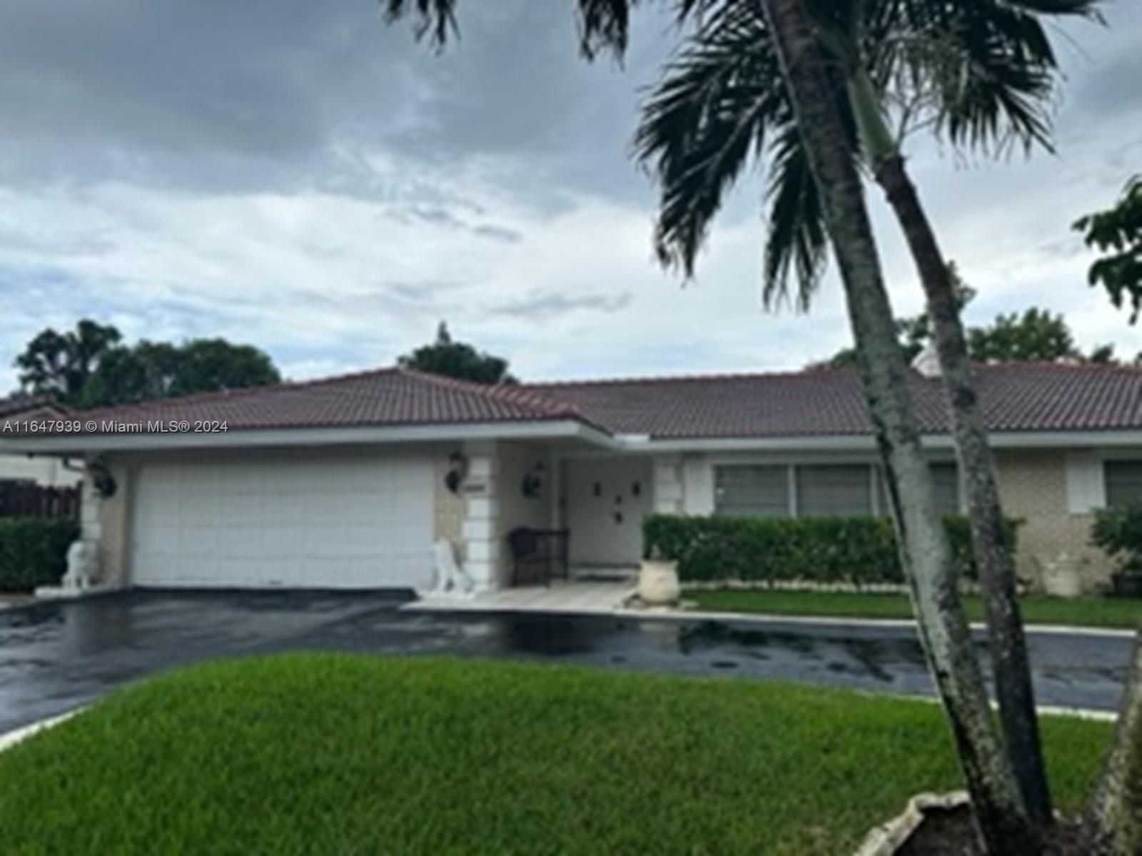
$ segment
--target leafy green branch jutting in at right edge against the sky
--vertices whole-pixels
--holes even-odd
[[[1142,310],[1142,175],[1126,183],[1113,208],[1080,217],[1075,228],[1103,253],[1091,265],[1091,284],[1101,284],[1119,309],[1129,300],[1133,324]]]

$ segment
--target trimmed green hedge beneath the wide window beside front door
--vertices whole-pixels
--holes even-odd
[[[1012,549],[1019,522],[1007,520]],[[944,519],[960,573],[974,579],[971,526]],[[643,524],[648,555],[677,559],[686,582],[902,583],[896,539],[887,517],[686,517],[651,515]]]

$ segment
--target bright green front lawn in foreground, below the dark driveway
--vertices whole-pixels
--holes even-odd
[[[1048,718],[1044,734],[1075,807],[1109,727]],[[147,680],[0,754],[0,849],[837,856],[958,783],[924,702],[289,654]]]

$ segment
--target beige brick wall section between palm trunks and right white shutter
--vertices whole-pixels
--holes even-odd
[[[1038,584],[1045,563],[1065,552],[1079,563],[1085,588],[1104,586],[1112,565],[1089,543],[1092,517],[1067,508],[1065,454],[1060,450],[998,451],[996,466],[1004,512],[1024,520],[1019,530],[1019,575]]]

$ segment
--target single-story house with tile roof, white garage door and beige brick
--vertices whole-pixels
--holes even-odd
[[[1065,554],[1100,584],[1091,512],[1142,499],[1142,371],[978,380],[1005,511],[1026,520],[1021,575]],[[960,509],[940,380],[911,382],[941,502]],[[520,526],[569,530],[585,574],[634,565],[652,511],[884,511],[841,369],[496,387],[383,369],[72,417],[0,452],[87,462],[83,533],[113,586],[419,588],[447,539],[490,590],[510,584]]]

